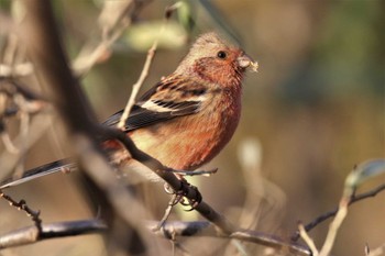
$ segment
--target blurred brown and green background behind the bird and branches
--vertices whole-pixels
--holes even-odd
[[[11,1],[0,1],[1,12],[11,13]],[[102,1],[55,0],[53,3],[66,48],[75,58],[85,42],[98,32],[96,21]],[[146,2],[107,54],[108,59],[84,77],[82,86],[100,121],[125,105],[146,51],[160,31],[164,10],[172,3]],[[184,3],[161,35],[142,91],[174,71],[189,43],[202,32],[221,33],[258,62],[258,73],[249,74],[244,82],[242,119],[233,140],[205,167],[218,167],[218,174],[190,180],[199,187],[205,201],[233,223],[288,238],[298,221],[307,223],[338,205],[344,178],[354,165],[384,158],[385,2],[191,0]],[[6,34],[1,37],[4,43]],[[53,135],[57,130],[50,131],[28,153],[26,169],[66,156],[59,138]],[[55,175],[7,192],[40,209],[44,222],[90,218],[92,213],[73,179]],[[384,177],[375,178],[359,191],[384,182]],[[156,193],[161,194],[157,200],[161,218],[167,196],[158,190]],[[385,242],[384,200],[383,192],[350,208],[334,255],[364,255],[365,244],[375,248]],[[180,209],[176,212],[179,214],[174,219],[199,219],[194,212],[185,213]],[[13,230],[15,223],[21,227],[31,221],[0,200],[0,233]],[[324,240],[328,223],[310,232],[318,246]],[[106,255],[101,242],[98,235],[89,235],[1,253],[4,256]],[[186,242],[187,251],[191,244]],[[208,245],[195,249],[189,253],[223,253]],[[261,253],[263,247],[250,249]]]

